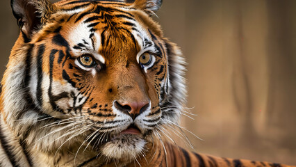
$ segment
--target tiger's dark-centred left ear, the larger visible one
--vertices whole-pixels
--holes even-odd
[[[31,38],[47,22],[54,7],[49,0],[10,0],[13,15],[22,33]]]

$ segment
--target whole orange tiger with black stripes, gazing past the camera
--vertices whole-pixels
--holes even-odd
[[[186,62],[153,19],[162,0],[10,2],[20,32],[1,81],[1,167],[286,166],[170,141]]]

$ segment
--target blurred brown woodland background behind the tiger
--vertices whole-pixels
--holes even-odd
[[[3,74],[18,29],[9,0],[0,13]],[[163,0],[157,14],[188,62],[195,151],[296,165],[296,1]]]

